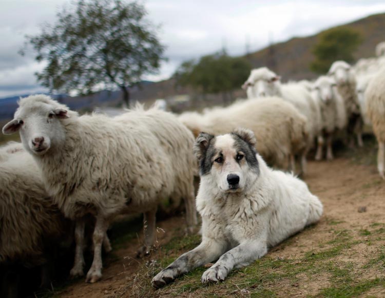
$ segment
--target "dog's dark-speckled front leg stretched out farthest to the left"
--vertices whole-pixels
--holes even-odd
[[[163,269],[152,279],[154,288],[161,288],[172,281],[177,276],[187,273],[192,269],[213,262],[227,249],[227,243],[218,242],[210,238],[203,238],[202,243],[196,248],[182,254],[176,261]]]

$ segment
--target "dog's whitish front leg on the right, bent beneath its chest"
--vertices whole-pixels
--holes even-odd
[[[223,254],[217,263],[207,269],[201,278],[203,284],[223,281],[233,268],[241,268],[263,257],[266,242],[261,239],[247,240]]]

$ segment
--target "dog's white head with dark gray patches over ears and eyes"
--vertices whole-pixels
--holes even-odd
[[[225,193],[240,192],[258,177],[256,138],[247,129],[213,136],[200,133],[194,145],[201,179],[210,179]]]

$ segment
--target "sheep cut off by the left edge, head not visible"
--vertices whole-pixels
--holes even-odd
[[[15,267],[43,266],[42,286],[49,285],[44,270],[52,245],[63,235],[65,221],[44,188],[42,174],[21,143],[0,147],[0,266],[4,290],[17,291],[7,276]],[[17,274],[18,270],[16,270]],[[0,291],[0,295],[7,294]]]

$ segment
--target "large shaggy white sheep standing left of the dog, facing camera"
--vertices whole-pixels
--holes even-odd
[[[79,116],[46,95],[22,98],[3,133],[19,131],[42,170],[48,193],[75,223],[71,276],[83,275],[84,218],[95,217],[94,256],[86,282],[102,277],[101,246],[118,214],[144,212],[145,253],[156,237],[157,204],[183,197],[188,231],[197,222],[191,148],[194,137],[170,113],[141,107],[109,118]]]

